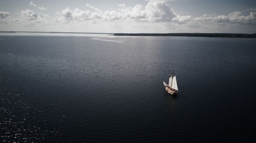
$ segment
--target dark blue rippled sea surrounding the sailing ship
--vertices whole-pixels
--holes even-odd
[[[1,143],[256,140],[256,39],[14,35],[0,36]]]

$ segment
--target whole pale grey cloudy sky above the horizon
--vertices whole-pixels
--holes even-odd
[[[256,0],[0,0],[0,31],[256,33]]]

